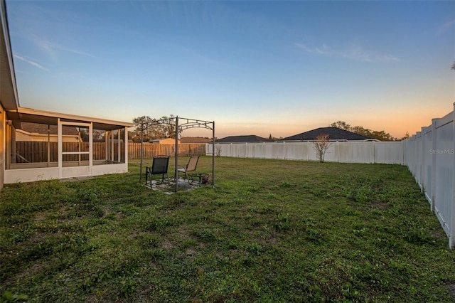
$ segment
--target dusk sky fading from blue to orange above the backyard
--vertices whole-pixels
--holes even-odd
[[[453,110],[455,1],[6,1],[21,107],[288,137]],[[184,137],[211,132],[187,130]]]

